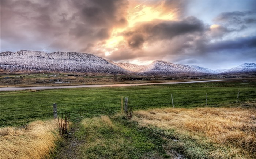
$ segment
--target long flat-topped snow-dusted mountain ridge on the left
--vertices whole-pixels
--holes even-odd
[[[0,69],[8,71],[91,72],[107,74],[131,73],[102,57],[88,53],[20,50],[1,52]]]

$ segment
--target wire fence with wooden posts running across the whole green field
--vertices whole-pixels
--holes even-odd
[[[128,92],[128,91],[127,91]],[[145,91],[147,92],[147,91]],[[128,98],[125,98],[128,97]],[[129,94],[128,96],[104,95],[97,98],[57,99],[42,102],[33,101],[20,103],[15,107],[1,106],[0,127],[6,125],[22,125],[28,121],[53,118],[53,103],[57,104],[57,113],[70,113],[71,121],[79,121],[86,117],[99,115],[113,115],[126,112],[129,106],[133,110],[163,107],[218,107],[225,104],[236,104],[256,100],[256,90],[233,89],[226,92],[220,91],[173,91],[173,92],[148,92],[147,94]],[[31,100],[30,100],[31,101]],[[127,104],[125,104],[127,101]],[[123,107],[124,106],[124,107]],[[54,111],[55,112],[55,111]],[[55,116],[56,117],[56,116]]]

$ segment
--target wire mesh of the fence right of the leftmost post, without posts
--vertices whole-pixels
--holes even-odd
[[[182,95],[173,94],[174,107],[218,107],[223,104],[234,104],[237,100],[237,92],[233,94],[223,95],[221,92],[208,94],[206,101],[206,94]],[[246,102],[249,100],[256,100],[256,91],[243,91],[240,94],[239,102]],[[111,101],[111,102],[110,102]],[[58,105],[58,114],[71,114],[71,119],[79,120],[85,117],[99,116],[99,115],[113,115],[121,112],[121,97],[108,99],[108,102],[95,103],[60,103]],[[79,102],[79,101],[78,101]],[[123,97],[124,106],[124,97]],[[131,96],[128,97],[128,106],[132,106],[133,110],[148,109],[148,108],[163,108],[172,107],[172,100],[169,96],[163,98],[162,96],[155,96],[154,98],[144,98]]]

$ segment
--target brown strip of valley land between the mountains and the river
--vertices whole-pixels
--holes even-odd
[[[100,73],[6,72],[0,71],[0,87],[69,86],[90,84],[135,84],[191,80],[253,79],[256,74],[239,73],[205,76],[142,76]]]

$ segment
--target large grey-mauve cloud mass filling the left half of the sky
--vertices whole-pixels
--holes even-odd
[[[1,0],[1,40],[12,45],[1,51],[89,51],[87,45],[108,39],[113,26],[127,24],[127,5],[126,0]]]

